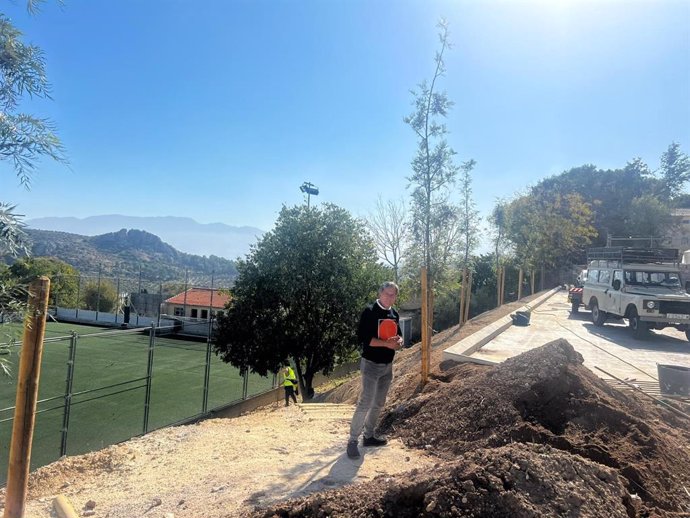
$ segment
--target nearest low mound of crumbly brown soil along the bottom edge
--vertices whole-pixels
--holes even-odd
[[[253,516],[628,518],[635,505],[615,470],[548,446],[514,444],[469,452],[424,473],[378,477]]]

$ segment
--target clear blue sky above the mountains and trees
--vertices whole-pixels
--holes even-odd
[[[299,186],[365,216],[409,198],[410,89],[440,87],[457,160],[477,161],[486,215],[539,179],[592,163],[652,168],[690,153],[690,1],[24,0],[2,10],[45,52],[50,117],[70,158],[30,191],[28,219],[185,215],[270,230]]]

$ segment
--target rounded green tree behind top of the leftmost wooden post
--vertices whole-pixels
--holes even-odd
[[[23,284],[45,275],[50,279],[51,304],[76,307],[79,291],[79,272],[55,257],[28,257],[17,260],[9,273]]]

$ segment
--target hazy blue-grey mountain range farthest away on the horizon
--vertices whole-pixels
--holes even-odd
[[[235,227],[224,223],[198,223],[174,216],[143,217],[112,214],[88,218],[36,218],[25,221],[34,229],[96,236],[121,228],[144,230],[159,236],[175,249],[188,254],[215,255],[226,259],[244,257],[263,231],[256,227]]]

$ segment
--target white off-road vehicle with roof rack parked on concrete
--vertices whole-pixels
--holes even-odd
[[[675,327],[690,340],[690,294],[681,285],[678,250],[592,248],[583,300],[592,322],[626,318],[633,335]]]

